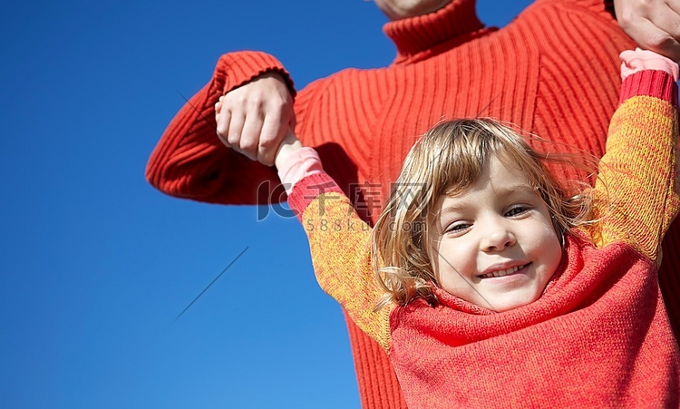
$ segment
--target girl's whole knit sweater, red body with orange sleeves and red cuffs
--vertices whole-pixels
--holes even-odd
[[[327,175],[294,185],[319,284],[387,351],[410,408],[680,407],[680,352],[656,275],[680,207],[676,92],[658,71],[627,79],[593,190],[607,198],[595,201],[593,237],[568,235],[541,297],[501,313],[440,288],[436,307],[418,298],[374,312],[370,229]]]

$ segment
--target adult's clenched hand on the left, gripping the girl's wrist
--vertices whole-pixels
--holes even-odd
[[[295,125],[293,97],[279,73],[263,73],[221,96],[215,119],[222,143],[271,166],[286,131]]]

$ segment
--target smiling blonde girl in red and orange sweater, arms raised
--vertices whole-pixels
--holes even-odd
[[[292,135],[279,150],[319,284],[387,351],[410,408],[680,405],[656,278],[679,202],[677,65],[622,59],[596,187],[576,196],[509,128],[445,122],[371,231],[315,151]]]

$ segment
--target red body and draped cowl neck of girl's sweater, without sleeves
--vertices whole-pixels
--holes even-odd
[[[656,268],[570,237],[538,301],[503,313],[440,290],[391,316],[410,408],[678,407],[678,347]]]

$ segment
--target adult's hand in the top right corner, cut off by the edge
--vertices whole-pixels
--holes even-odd
[[[614,0],[614,10],[641,48],[680,62],[680,0]]]

